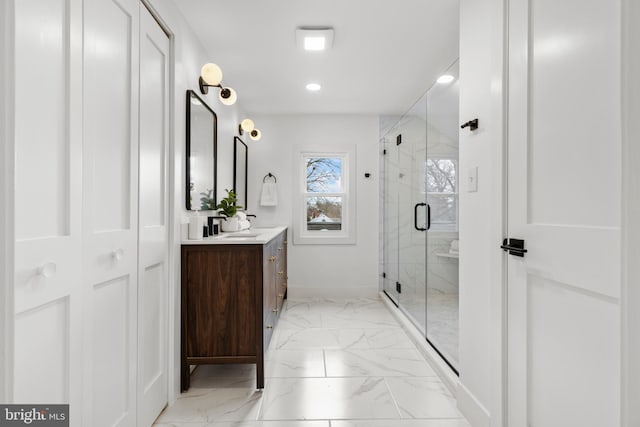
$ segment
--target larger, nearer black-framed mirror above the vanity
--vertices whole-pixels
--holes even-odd
[[[186,208],[215,210],[218,117],[192,90],[187,90],[186,128]]]

